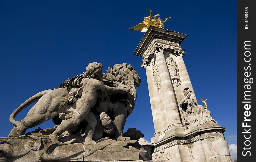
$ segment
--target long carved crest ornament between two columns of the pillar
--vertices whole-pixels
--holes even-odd
[[[172,83],[176,85],[177,87],[181,85],[181,79],[179,76],[179,68],[176,64],[176,62],[173,60],[171,56],[168,56],[166,58],[166,63],[172,78]]]

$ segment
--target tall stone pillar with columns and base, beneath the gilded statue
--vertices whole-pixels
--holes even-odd
[[[142,57],[147,74],[155,129],[153,161],[231,162],[225,128],[197,104],[180,46],[186,37],[150,26],[134,52]]]

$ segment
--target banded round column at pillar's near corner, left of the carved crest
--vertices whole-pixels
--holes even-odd
[[[172,86],[170,73],[163,53],[164,49],[166,49],[166,47],[156,44],[156,62],[162,87],[163,98],[165,102],[166,114],[169,121],[169,127],[175,125],[183,126],[181,123],[180,114],[178,112],[178,106],[174,95],[174,89]]]

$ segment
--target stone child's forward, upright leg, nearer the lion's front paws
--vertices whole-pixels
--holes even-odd
[[[97,125],[97,120],[92,112],[89,112],[87,116],[84,118],[84,120],[88,123],[86,129],[85,129],[85,142],[87,144],[95,144],[96,142],[93,141],[93,134],[95,127]]]

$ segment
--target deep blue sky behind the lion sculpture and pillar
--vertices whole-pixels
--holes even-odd
[[[198,104],[208,99],[212,117],[226,127],[227,142],[236,144],[236,1],[0,1],[0,137],[9,134],[9,116],[21,103],[96,61],[105,72],[116,63],[134,66],[141,86],[125,131],[135,127],[151,141],[146,72],[142,58],[132,55],[144,33],[129,30],[150,10],[172,17],[166,29],[188,35],[181,46]],[[51,120],[40,125],[52,126]]]

